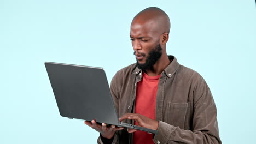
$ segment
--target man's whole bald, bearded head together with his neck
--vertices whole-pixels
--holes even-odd
[[[138,68],[155,75],[170,64],[166,53],[169,32],[169,17],[159,8],[144,9],[133,18],[130,38]]]

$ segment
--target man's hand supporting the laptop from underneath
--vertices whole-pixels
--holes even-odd
[[[89,127],[97,130],[98,132],[101,133],[101,136],[107,138],[107,139],[111,139],[114,134],[115,134],[115,131],[117,130],[121,130],[121,129],[124,129],[123,127],[115,127],[115,125],[111,125],[110,127],[107,127],[107,124],[106,123],[102,123],[101,125],[100,124],[97,124],[96,121],[92,120],[91,122],[90,121],[84,121],[84,123],[86,125],[88,125]]]

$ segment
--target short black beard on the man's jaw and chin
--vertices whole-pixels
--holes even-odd
[[[146,62],[144,64],[139,64],[137,61],[137,67],[143,71],[147,69],[152,69],[155,63],[159,60],[159,58],[162,56],[162,47],[160,44],[158,44],[155,49],[150,51],[148,53],[148,57],[146,57]]]

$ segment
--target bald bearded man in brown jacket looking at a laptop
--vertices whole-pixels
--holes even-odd
[[[119,70],[110,86],[119,120],[158,134],[85,121],[100,132],[98,143],[221,143],[210,89],[196,71],[167,56],[169,32],[161,9],[138,13],[130,30],[137,63]]]

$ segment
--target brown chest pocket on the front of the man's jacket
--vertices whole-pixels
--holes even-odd
[[[188,112],[189,103],[168,103],[167,122],[175,127],[184,129],[186,114]]]

